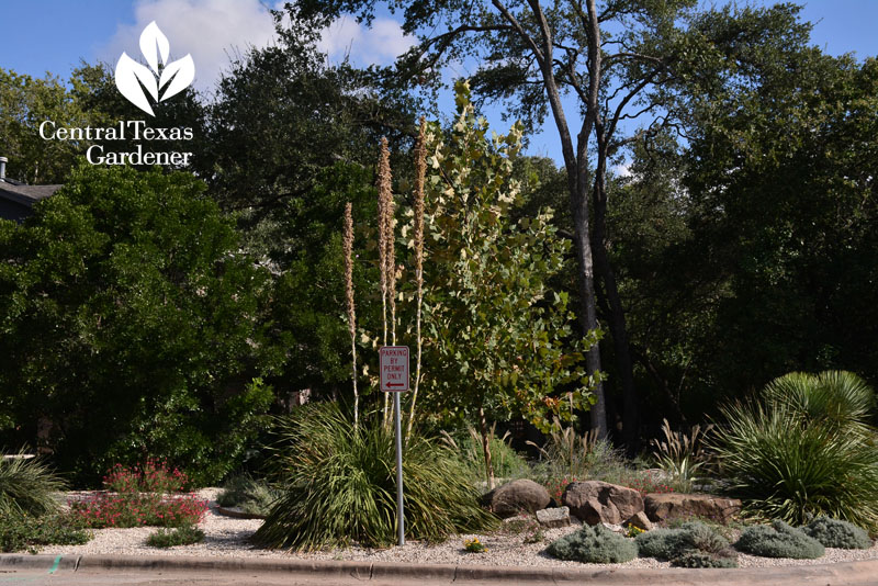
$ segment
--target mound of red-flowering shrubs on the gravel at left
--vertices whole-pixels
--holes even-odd
[[[143,467],[120,464],[104,476],[105,491],[70,503],[71,516],[83,527],[182,527],[199,523],[207,502],[179,493],[189,480],[167,463],[147,460]]]

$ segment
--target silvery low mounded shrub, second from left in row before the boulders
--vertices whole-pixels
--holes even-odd
[[[673,565],[684,567],[734,567],[734,551],[729,540],[719,534],[712,527],[700,521],[688,521],[676,529],[653,529],[637,536],[635,542],[641,557],[669,560]],[[713,562],[709,559],[716,559]],[[700,565],[693,564],[716,564]]]

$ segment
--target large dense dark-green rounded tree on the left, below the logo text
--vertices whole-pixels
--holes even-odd
[[[189,174],[79,167],[22,226],[0,223],[0,413],[64,470],[146,455],[216,481],[283,361],[268,271]]]

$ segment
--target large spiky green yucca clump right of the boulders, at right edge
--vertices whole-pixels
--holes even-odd
[[[852,407],[860,403],[849,401],[849,386],[823,384],[851,376],[787,375],[768,385],[764,403],[722,409],[725,424],[710,444],[751,512],[791,525],[826,515],[878,530],[878,448],[867,412]],[[856,395],[865,396],[862,387]]]

